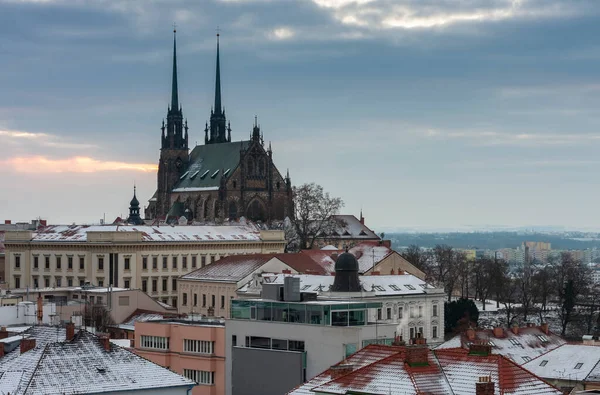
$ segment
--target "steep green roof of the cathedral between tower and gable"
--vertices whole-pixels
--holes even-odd
[[[196,146],[190,154],[188,168],[174,189],[218,188],[223,174],[231,175],[240,163],[240,150],[249,145],[250,141],[236,141]]]

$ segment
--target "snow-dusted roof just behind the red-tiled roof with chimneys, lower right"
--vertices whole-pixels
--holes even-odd
[[[456,347],[468,349],[473,342],[483,342],[490,344],[494,353],[504,355],[513,362],[523,365],[566,343],[560,336],[552,332],[546,333],[535,326],[519,328],[517,334],[512,330],[502,329],[500,336],[495,336],[492,329],[473,329],[472,331],[471,333],[474,335],[472,340],[469,339],[468,332],[464,332],[440,344],[436,349]]]

